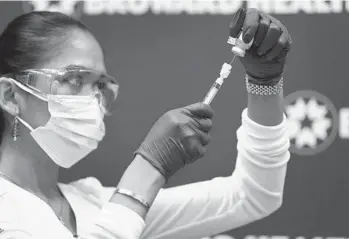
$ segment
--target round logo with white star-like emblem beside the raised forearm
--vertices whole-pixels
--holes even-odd
[[[285,113],[292,153],[318,154],[337,136],[337,110],[326,96],[316,91],[304,90],[288,95]]]

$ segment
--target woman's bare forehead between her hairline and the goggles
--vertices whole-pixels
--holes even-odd
[[[60,69],[76,65],[106,72],[102,48],[88,32],[72,32],[68,40],[54,50],[54,57],[41,65],[42,68]]]

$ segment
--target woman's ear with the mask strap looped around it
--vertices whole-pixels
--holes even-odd
[[[17,89],[13,79],[0,77],[0,107],[13,116],[19,114],[19,105],[16,100]]]

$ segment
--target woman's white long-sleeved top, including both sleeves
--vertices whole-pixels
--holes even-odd
[[[114,188],[92,177],[60,184],[84,239],[200,239],[268,216],[282,203],[289,140],[284,121],[258,125],[242,113],[233,174],[162,189],[146,220],[108,203]],[[216,159],[217,160],[217,159]],[[0,239],[72,239],[43,201],[0,178]],[[6,237],[17,233],[15,237]],[[20,236],[21,235],[21,236]]]

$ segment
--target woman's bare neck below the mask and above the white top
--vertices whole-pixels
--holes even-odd
[[[4,133],[0,146],[0,172],[21,188],[38,197],[57,195],[59,166],[35,143],[29,134],[13,141]]]

